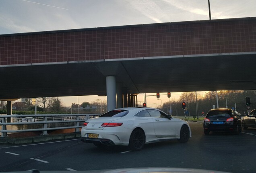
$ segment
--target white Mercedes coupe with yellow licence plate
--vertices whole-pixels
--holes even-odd
[[[130,107],[109,111],[88,119],[81,129],[82,141],[97,147],[125,145],[138,151],[147,143],[191,137],[188,122],[173,118],[159,109]]]

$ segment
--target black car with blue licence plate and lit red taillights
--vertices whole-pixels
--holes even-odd
[[[241,119],[232,109],[211,109],[204,118],[204,134],[211,131],[242,131]]]

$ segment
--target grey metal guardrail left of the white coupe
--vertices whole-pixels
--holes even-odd
[[[50,114],[50,115],[1,115],[0,125],[2,125],[1,137],[7,137],[7,133],[17,132],[30,132],[30,131],[42,131],[41,135],[47,135],[47,130],[59,130],[59,129],[73,129],[75,132],[79,132],[81,122],[85,122],[87,119],[98,117],[100,114]],[[23,118],[24,117],[24,118]],[[6,123],[6,118],[12,118],[12,123]],[[73,126],[68,127],[47,127],[47,124],[51,123],[75,123]],[[33,125],[42,124],[43,128],[35,129],[22,129],[22,130],[7,130],[8,125]]]

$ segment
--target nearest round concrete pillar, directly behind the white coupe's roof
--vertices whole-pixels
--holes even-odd
[[[116,77],[107,76],[107,111],[116,109]]]

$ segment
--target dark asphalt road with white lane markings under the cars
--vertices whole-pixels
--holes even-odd
[[[141,151],[107,146],[99,149],[80,139],[31,145],[0,145],[0,171],[99,170],[132,167],[181,167],[232,173],[256,173],[256,129],[239,135],[204,135],[202,124],[189,122],[192,138],[145,145]]]

